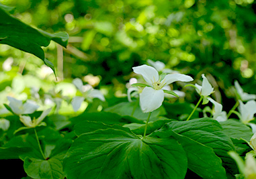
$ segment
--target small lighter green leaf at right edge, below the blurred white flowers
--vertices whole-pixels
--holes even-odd
[[[232,137],[234,139],[243,138],[250,141],[251,137],[253,136],[251,128],[239,121],[228,119],[227,121],[220,122],[220,125],[228,137]]]

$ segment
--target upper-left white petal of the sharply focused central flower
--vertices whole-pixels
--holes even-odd
[[[141,66],[132,67],[132,70],[136,74],[141,74],[148,84],[153,84],[153,82],[159,80],[159,74],[152,66],[143,64]]]

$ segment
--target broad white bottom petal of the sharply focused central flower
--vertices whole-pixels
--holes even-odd
[[[163,90],[155,90],[146,86],[140,93],[140,108],[143,113],[152,112],[161,107],[163,99]]]

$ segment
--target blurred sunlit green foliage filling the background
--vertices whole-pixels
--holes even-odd
[[[152,59],[193,76],[195,82],[202,73],[210,76],[215,84],[214,95],[217,101],[222,99],[224,106],[229,103],[224,99],[233,95],[230,86],[235,79],[245,91],[256,93],[253,0],[0,0],[0,3],[15,7],[15,17],[46,32],[68,32],[70,39],[64,49],[63,68],[57,60],[61,58],[60,47],[52,42],[44,48],[46,58],[64,78],[92,74],[101,79],[99,85],[112,85],[114,92],[126,93],[125,83],[133,76],[132,66]],[[35,75],[43,64],[30,54],[1,45],[0,63],[10,57],[13,68],[22,74]]]

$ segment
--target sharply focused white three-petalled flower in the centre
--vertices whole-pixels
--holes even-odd
[[[163,79],[155,68],[141,65],[132,68],[136,74],[141,74],[149,84],[140,93],[140,108],[144,113],[152,112],[161,107],[164,100],[164,87],[175,81],[189,82],[193,78],[185,74],[167,74]]]

